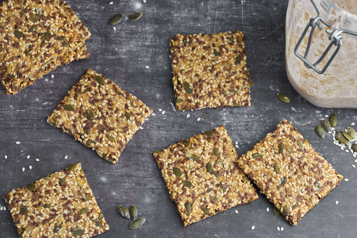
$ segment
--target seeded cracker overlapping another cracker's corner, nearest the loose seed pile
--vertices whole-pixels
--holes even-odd
[[[238,166],[291,225],[343,178],[285,119],[242,155]]]

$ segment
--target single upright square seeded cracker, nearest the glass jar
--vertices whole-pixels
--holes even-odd
[[[241,31],[171,38],[177,110],[250,106],[244,41]]]

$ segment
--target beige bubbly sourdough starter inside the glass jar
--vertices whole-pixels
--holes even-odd
[[[321,1],[322,0],[315,0],[320,10],[323,8]],[[350,2],[342,0],[334,1]],[[346,17],[347,12],[342,12],[344,12],[344,17]],[[332,23],[334,21],[333,19],[338,19],[337,14],[341,14],[341,12],[338,13],[338,11],[335,10],[332,16],[330,15],[329,18],[326,16],[326,18]],[[352,14],[347,15],[348,19],[351,20],[352,17],[352,20],[357,21],[357,16]],[[288,79],[301,96],[316,106],[357,108],[357,37],[343,34],[342,47],[324,74],[318,74],[314,70],[308,69],[303,64],[303,61],[298,59],[294,54],[294,47],[304,28],[310,19],[316,16],[316,10],[310,0],[289,1],[285,28],[285,56]],[[315,62],[331,42],[328,39],[328,34],[325,32],[327,26],[323,25],[323,27],[324,29],[322,31],[318,28],[315,30],[308,56],[310,62]],[[341,28],[346,28],[346,26],[343,25]],[[309,34],[310,30],[307,32],[298,49],[300,55],[305,54]],[[322,69],[323,66],[325,66],[335,49],[335,46],[333,46],[330,53],[317,66],[318,69]]]

